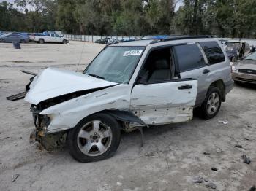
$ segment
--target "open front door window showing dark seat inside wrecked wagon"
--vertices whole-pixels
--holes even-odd
[[[139,82],[166,82],[174,77],[175,66],[171,49],[152,50],[138,77]]]

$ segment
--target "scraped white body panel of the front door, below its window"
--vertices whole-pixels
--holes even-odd
[[[178,90],[181,85],[192,89]],[[132,110],[147,125],[192,120],[197,95],[197,80],[135,85],[131,95]]]

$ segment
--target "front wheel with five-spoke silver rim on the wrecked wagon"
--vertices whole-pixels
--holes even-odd
[[[75,160],[87,163],[112,156],[120,144],[120,138],[120,127],[113,117],[93,114],[69,131],[67,147]]]

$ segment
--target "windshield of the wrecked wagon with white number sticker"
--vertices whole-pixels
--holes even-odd
[[[128,83],[145,47],[107,47],[83,71],[110,82]]]

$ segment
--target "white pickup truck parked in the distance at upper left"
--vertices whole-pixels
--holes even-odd
[[[55,42],[63,44],[69,43],[69,40],[67,38],[59,34],[34,34],[31,36],[31,39],[34,40],[34,42],[39,42],[40,44],[45,42]]]

